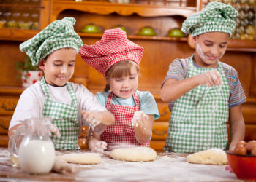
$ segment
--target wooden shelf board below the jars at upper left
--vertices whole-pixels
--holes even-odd
[[[4,41],[26,41],[35,36],[39,31],[15,28],[0,29],[0,40]]]

